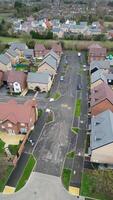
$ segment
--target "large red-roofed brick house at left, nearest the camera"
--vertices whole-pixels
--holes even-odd
[[[10,135],[26,134],[34,129],[37,120],[36,100],[19,104],[15,100],[0,103],[0,130]]]

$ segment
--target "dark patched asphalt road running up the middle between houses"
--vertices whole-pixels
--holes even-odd
[[[78,70],[80,67],[77,53],[66,52],[66,59],[69,63],[64,81],[60,82],[60,76],[64,72],[65,56],[63,56],[58,75],[56,76],[52,93],[60,91],[60,100],[49,103],[55,113],[54,123],[46,126],[34,150],[38,159],[36,171],[60,176],[62,172],[65,154],[70,145],[70,128],[73,120],[73,108],[76,98]],[[70,133],[70,134],[69,134]]]

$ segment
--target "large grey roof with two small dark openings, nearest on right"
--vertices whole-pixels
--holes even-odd
[[[106,110],[91,119],[91,149],[113,142],[113,113]]]

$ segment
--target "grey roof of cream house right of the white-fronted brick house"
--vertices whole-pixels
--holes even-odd
[[[48,72],[29,72],[27,82],[48,84],[50,75]]]

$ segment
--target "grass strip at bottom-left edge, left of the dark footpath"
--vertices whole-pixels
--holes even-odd
[[[13,166],[6,167],[3,178],[0,178],[0,192],[3,192],[12,170],[13,170]]]

